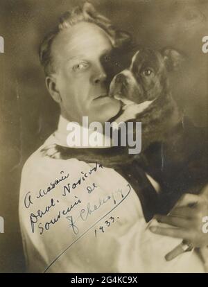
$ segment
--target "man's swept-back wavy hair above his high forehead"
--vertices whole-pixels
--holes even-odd
[[[112,26],[112,23],[109,19],[99,14],[94,6],[91,3],[85,2],[83,7],[77,6],[70,11],[65,12],[60,17],[60,23],[58,26],[51,31],[46,37],[42,44],[40,44],[39,57],[40,63],[44,68],[44,73],[46,76],[51,75],[55,72],[53,55],[51,52],[51,46],[55,37],[63,31],[64,29],[70,28],[80,22],[89,22],[94,23],[97,26],[101,27],[105,33],[110,37],[112,46],[119,48],[121,46],[129,45],[131,42],[130,34],[121,30],[116,29]]]

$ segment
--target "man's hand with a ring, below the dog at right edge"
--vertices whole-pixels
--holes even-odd
[[[182,238],[193,244],[194,247],[208,246],[208,233],[202,232],[202,218],[208,216],[208,185],[205,186],[200,195],[186,193],[177,202],[175,207],[167,216],[157,214],[155,219],[159,223],[166,223],[170,227],[150,227],[155,234]],[[182,245],[166,254],[169,261],[184,252]]]

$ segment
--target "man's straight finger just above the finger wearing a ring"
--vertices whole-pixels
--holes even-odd
[[[159,226],[150,226],[150,232],[155,234],[160,234],[164,236],[170,236],[174,238],[183,238],[189,240],[189,232],[185,229],[180,228],[167,228],[167,227],[159,227]]]

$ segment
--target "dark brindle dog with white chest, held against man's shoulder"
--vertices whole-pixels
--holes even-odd
[[[139,49],[128,69],[114,76],[110,96],[123,103],[115,119],[140,121],[140,165],[157,180],[160,213],[166,214],[182,193],[200,193],[208,179],[207,128],[196,128],[180,112],[171,94],[169,73],[184,56],[173,49]]]

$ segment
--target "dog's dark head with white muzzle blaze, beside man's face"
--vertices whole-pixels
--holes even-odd
[[[176,69],[182,55],[173,49],[164,52],[139,49],[128,69],[114,76],[110,85],[110,96],[128,103],[152,101],[168,89],[168,71]]]

